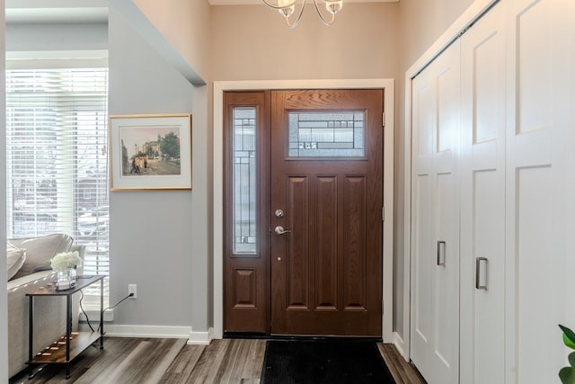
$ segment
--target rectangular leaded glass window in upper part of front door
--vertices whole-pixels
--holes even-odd
[[[365,112],[289,112],[290,157],[365,156]]]

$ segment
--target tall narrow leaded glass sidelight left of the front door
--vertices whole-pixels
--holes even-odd
[[[256,109],[234,108],[234,254],[256,252]]]

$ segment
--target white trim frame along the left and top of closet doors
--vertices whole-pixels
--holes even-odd
[[[403,193],[405,195],[403,207],[403,303],[400,304],[403,308],[403,335],[395,333],[394,344],[408,362],[411,360],[411,83],[413,78],[418,76],[452,42],[457,40],[461,33],[482,17],[484,13],[489,12],[492,5],[500,1],[475,0],[405,72],[405,109],[403,110],[405,121],[403,137]]]

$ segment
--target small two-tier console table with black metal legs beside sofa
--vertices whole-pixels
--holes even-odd
[[[75,287],[69,290],[56,290],[56,284],[49,284],[26,293],[30,298],[30,340],[29,340],[29,361],[30,365],[28,377],[34,376],[34,365],[43,364],[63,364],[66,365],[66,379],[70,378],[69,364],[83,353],[90,345],[100,341],[100,349],[104,347],[104,321],[103,321],[103,302],[104,302],[104,277],[103,275],[78,276],[75,281]],[[83,290],[89,285],[100,281],[100,332],[72,332],[72,295],[79,290]],[[34,299],[39,297],[66,297],[66,335],[63,335],[53,344],[44,350],[36,353],[32,351],[32,338],[34,335]],[[77,314],[76,314],[77,315]]]

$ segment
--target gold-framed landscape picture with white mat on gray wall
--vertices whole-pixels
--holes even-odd
[[[111,191],[190,190],[191,114],[113,115]]]

